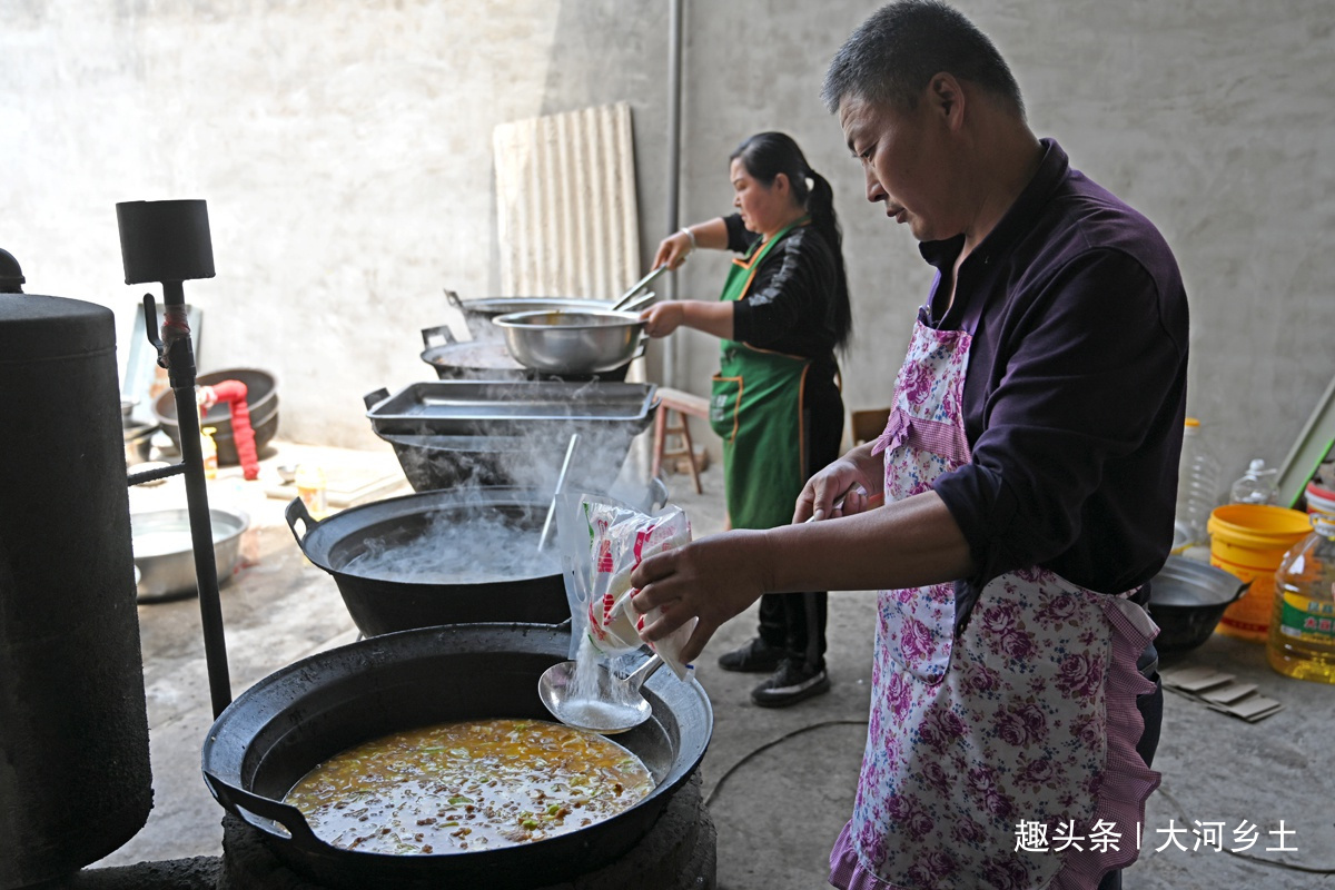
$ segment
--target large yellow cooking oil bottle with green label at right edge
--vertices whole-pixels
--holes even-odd
[[[1280,674],[1335,685],[1335,516],[1312,514],[1275,572],[1267,654]]]

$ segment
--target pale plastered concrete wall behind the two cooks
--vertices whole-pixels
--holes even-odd
[[[682,219],[729,209],[741,137],[792,132],[844,221],[846,402],[882,404],[930,270],[862,200],[817,97],[872,4],[686,7]],[[1009,60],[1035,131],[1175,247],[1188,410],[1226,478],[1282,460],[1335,374],[1335,7],[961,8]],[[360,395],[431,376],[418,331],[445,320],[441,290],[495,288],[497,123],[630,101],[646,260],[665,232],[666,0],[0,0],[0,247],[27,290],[112,306],[128,336],[142,288],[121,284],[113,204],[207,199],[219,275],[187,284],[202,370],[274,371],[288,438],[375,443]],[[716,296],[725,264],[694,258],[681,295]],[[702,392],[716,344],[678,338],[676,384]]]

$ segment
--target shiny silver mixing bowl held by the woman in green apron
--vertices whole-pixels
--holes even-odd
[[[515,362],[543,374],[602,374],[635,356],[638,312],[511,312],[491,320]]]

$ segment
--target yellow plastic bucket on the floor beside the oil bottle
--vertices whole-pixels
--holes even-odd
[[[1268,504],[1227,504],[1210,514],[1206,530],[1210,564],[1251,582],[1243,598],[1224,610],[1216,630],[1264,643],[1275,606],[1275,570],[1288,548],[1312,530],[1311,518]]]

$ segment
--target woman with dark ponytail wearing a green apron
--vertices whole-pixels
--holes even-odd
[[[844,403],[834,350],[852,316],[829,183],[785,133],[752,136],[730,161],[737,212],[672,235],[654,259],[677,268],[697,247],[741,254],[722,296],[661,303],[643,319],[650,336],[685,326],[720,338],[709,420],[724,440],[729,520],[772,528],[792,520],[806,479],[838,456]],[[766,594],[757,636],[718,663],[769,674],[752,691],[757,705],[826,691],[825,592]]]

